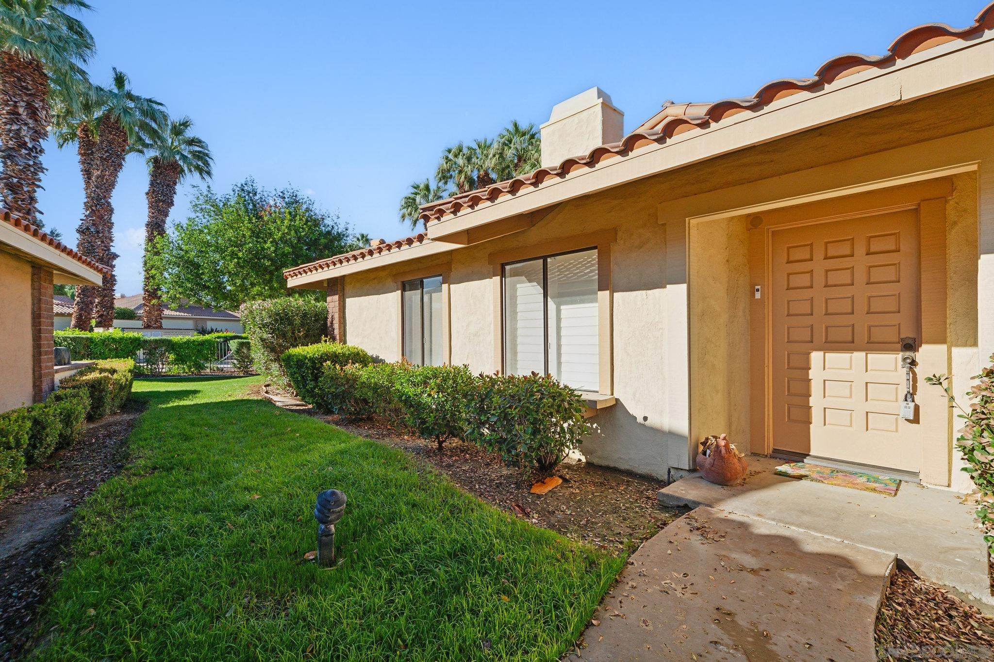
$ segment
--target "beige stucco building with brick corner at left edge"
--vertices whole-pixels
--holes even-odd
[[[55,389],[53,284],[101,285],[106,268],[0,210],[0,412]]]

